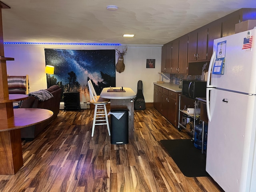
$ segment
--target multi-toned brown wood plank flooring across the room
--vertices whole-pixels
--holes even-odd
[[[110,144],[105,125],[91,137],[92,118],[93,107],[60,111],[32,142],[22,140],[24,166],[14,176],[0,175],[0,192],[222,191],[210,177],[180,172],[159,141],[191,136],[152,106],[134,111],[134,139],[124,145]]]

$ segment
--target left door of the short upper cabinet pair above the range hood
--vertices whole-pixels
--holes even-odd
[[[196,61],[197,53],[197,31],[188,34],[188,62]]]

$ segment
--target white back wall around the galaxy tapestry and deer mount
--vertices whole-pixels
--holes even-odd
[[[14,61],[7,61],[8,75],[29,76],[30,92],[47,88],[44,48],[92,50],[114,49],[114,46],[58,46],[58,45],[4,45],[5,57],[12,57]],[[121,49],[123,47],[120,47]],[[118,48],[118,49],[120,49]],[[162,46],[128,46],[124,56],[125,70],[116,72],[116,86],[130,87],[137,93],[138,80],[143,82],[143,94],[146,102],[153,102],[154,85],[158,81],[161,71]],[[155,59],[155,68],[146,68],[146,59]],[[116,56],[117,60],[117,56]]]

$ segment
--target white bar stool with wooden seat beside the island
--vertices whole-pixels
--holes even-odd
[[[106,108],[106,104],[109,102],[109,99],[104,99],[96,95],[91,80],[88,80],[88,87],[90,92],[90,103],[94,104],[95,106],[92,122],[92,137],[94,134],[95,125],[107,125],[108,135],[110,136],[110,128],[108,124],[108,114]]]

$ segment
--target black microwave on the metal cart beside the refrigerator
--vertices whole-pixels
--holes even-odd
[[[183,80],[182,95],[189,98],[206,97],[206,81]]]

